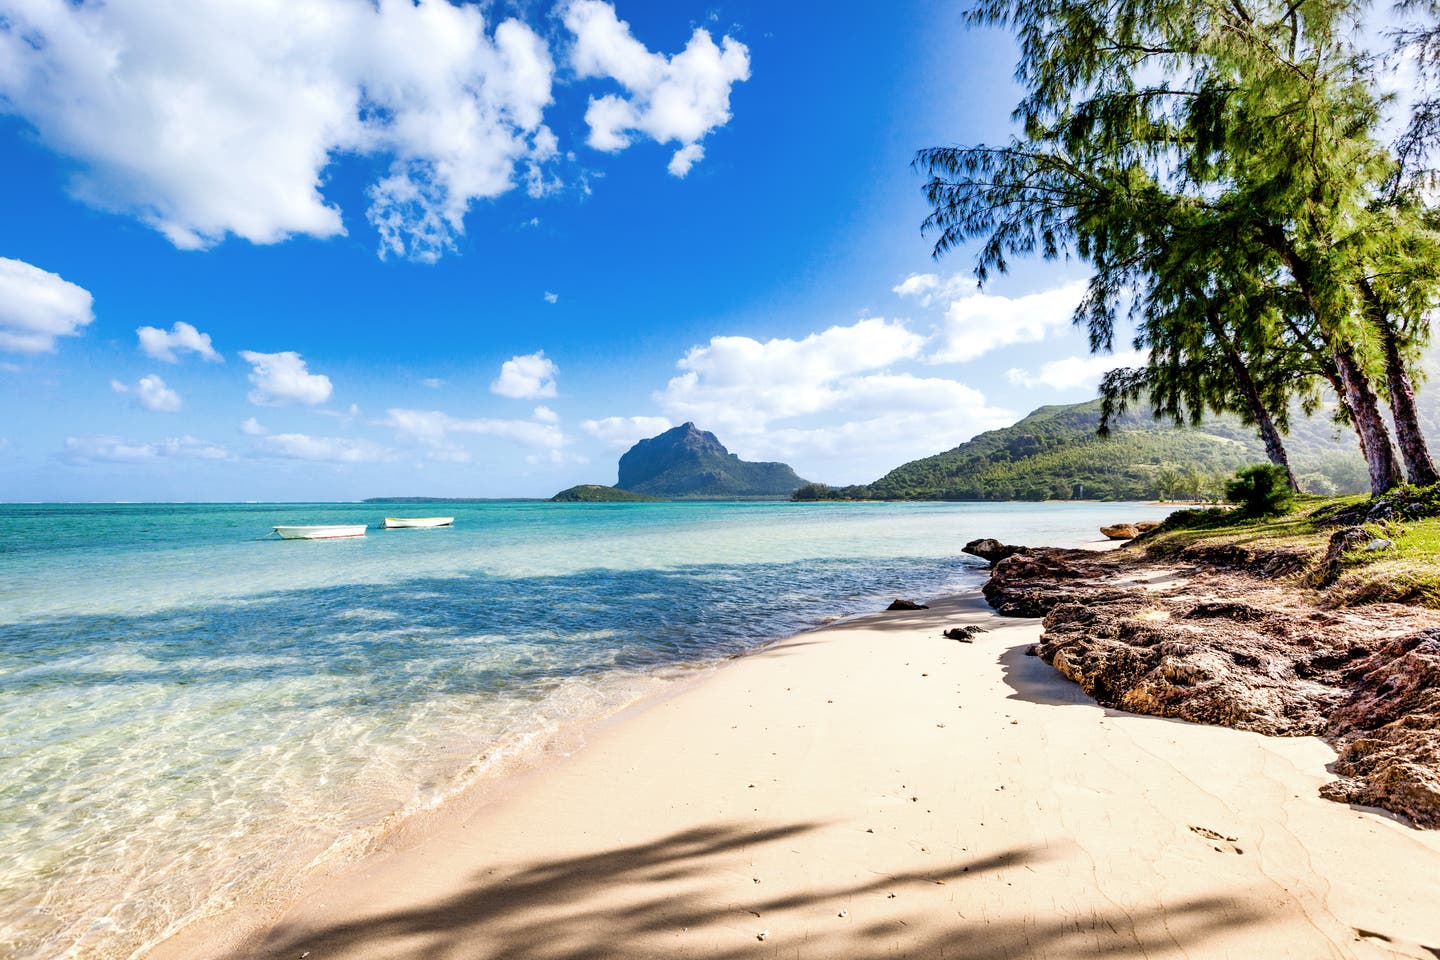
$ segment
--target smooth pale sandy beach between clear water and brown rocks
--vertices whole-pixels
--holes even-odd
[[[1320,799],[1328,746],[1103,710],[1038,633],[795,636],[147,957],[1440,956],[1440,836]]]

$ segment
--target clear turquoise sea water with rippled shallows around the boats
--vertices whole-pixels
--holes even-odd
[[[0,956],[132,956],[683,671],[976,586],[966,540],[1079,544],[1165,512],[0,505]],[[262,538],[305,522],[372,530]]]

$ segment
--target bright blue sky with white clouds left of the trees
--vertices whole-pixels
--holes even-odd
[[[1093,396],[930,259],[960,4],[0,0],[0,499],[547,497],[696,420],[874,479]]]

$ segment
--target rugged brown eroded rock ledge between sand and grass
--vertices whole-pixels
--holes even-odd
[[[1322,794],[1440,828],[1440,612],[1326,609],[1287,556],[1025,550],[985,597],[1044,616],[1035,653],[1106,707],[1339,751]]]

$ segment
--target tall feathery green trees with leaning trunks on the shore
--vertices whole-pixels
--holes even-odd
[[[935,255],[979,242],[985,284],[1015,256],[1077,256],[1096,353],[1123,322],[1142,367],[1102,381],[1100,433],[1132,404],[1253,426],[1299,488],[1292,410],[1332,396],[1372,494],[1440,481],[1416,409],[1440,299],[1440,0],[1407,0],[1367,46],[1358,0],[979,0],[1014,32],[1024,96],[1001,145],[933,147]],[[1404,59],[1408,125],[1382,91]],[[1388,412],[1388,417],[1387,417]]]

